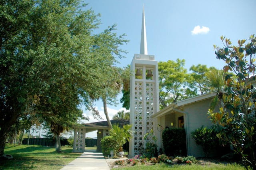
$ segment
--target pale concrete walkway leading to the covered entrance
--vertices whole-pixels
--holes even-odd
[[[86,150],[61,170],[110,170],[110,168],[102,153],[96,150]]]

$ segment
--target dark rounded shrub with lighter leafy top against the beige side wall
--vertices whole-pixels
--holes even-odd
[[[219,143],[214,129],[207,128],[207,126],[206,127],[201,126],[200,128],[191,132],[191,134],[192,134],[192,138],[195,139],[196,144],[203,148],[204,155],[206,157],[209,156],[210,152],[213,149],[216,149],[216,146]]]

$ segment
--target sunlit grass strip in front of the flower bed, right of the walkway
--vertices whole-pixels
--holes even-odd
[[[192,165],[166,165],[166,164],[156,164],[152,166],[138,165],[138,166],[128,166],[114,168],[114,170],[246,170],[246,168],[238,164],[212,164],[210,166],[202,166],[200,164]]]

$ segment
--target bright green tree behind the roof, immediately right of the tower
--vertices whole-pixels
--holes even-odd
[[[197,89],[191,86],[192,78],[184,65],[184,59],[158,63],[159,100],[162,108],[172,102],[196,96]]]

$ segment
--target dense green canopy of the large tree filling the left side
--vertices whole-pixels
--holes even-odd
[[[115,26],[94,34],[99,15],[81,10],[86,5],[80,4],[79,0],[0,2],[0,155],[8,130],[22,116],[42,122],[56,115],[58,122],[80,104],[95,110],[93,102],[108,82],[102,73],[111,74],[115,56],[121,58],[124,52],[120,45],[127,40],[116,35]],[[67,102],[70,97],[75,104]],[[61,109],[53,112],[55,106]],[[77,114],[73,116],[70,121],[77,120]]]

